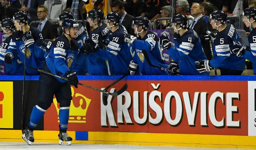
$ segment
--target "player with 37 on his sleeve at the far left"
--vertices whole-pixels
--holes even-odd
[[[23,75],[24,67],[17,52],[9,52],[7,55],[5,53],[8,49],[9,43],[12,39],[12,34],[14,33],[15,29],[13,19],[3,19],[0,23],[0,26],[2,31],[8,35],[7,39],[5,39],[0,45],[0,64],[5,62],[6,75]],[[14,61],[12,61],[12,59]]]

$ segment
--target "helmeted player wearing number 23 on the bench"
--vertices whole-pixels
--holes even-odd
[[[98,21],[100,23],[100,29],[102,33],[99,33],[99,27],[97,23],[96,13],[98,15]],[[104,21],[104,12],[101,9],[92,9],[87,13],[87,21],[90,24],[90,27],[93,27],[93,31],[90,32],[89,39],[93,40],[96,44],[103,39],[107,39],[108,29]],[[100,35],[101,34],[101,35]],[[101,39],[101,36],[103,39]],[[100,47],[103,49],[103,47]],[[105,59],[102,59],[96,55],[96,53],[88,52],[88,48],[82,47],[81,51],[86,51],[85,54],[88,56],[88,74],[90,75],[109,75],[107,70],[107,64]]]

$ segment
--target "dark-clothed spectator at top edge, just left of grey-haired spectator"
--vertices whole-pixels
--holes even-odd
[[[157,18],[161,17],[162,8],[166,5],[170,5],[168,0],[147,0],[145,1],[146,7],[141,13],[141,16],[147,17],[150,22],[154,22]]]

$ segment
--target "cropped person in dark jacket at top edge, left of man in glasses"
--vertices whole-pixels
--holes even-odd
[[[37,7],[43,5],[45,0],[25,0],[20,10],[28,13],[29,22],[37,20]]]

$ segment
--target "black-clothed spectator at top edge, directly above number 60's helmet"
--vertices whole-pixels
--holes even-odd
[[[144,0],[132,0],[129,3],[124,4],[126,12],[134,17],[140,16],[145,7]]]

